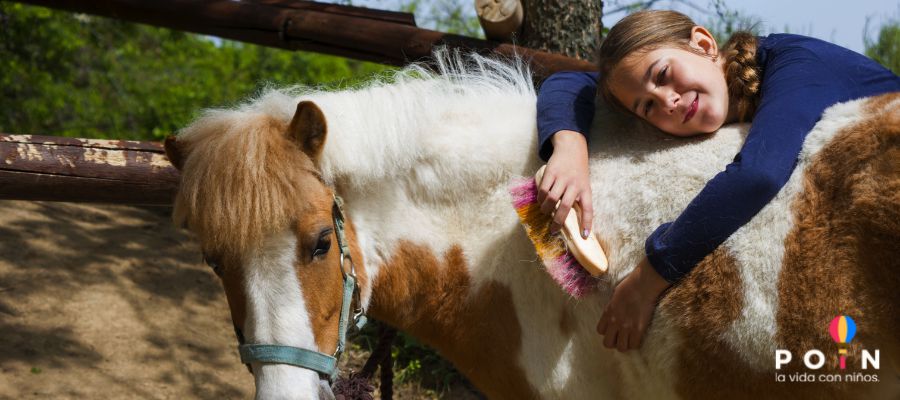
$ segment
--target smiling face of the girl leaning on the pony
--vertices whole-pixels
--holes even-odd
[[[610,91],[622,105],[675,136],[692,136],[719,129],[729,116],[728,86],[723,57],[703,27],[694,27],[690,46],[637,51],[615,66]],[[704,55],[705,54],[705,55]]]

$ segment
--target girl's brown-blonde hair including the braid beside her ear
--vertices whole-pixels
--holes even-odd
[[[612,70],[634,52],[649,52],[664,47],[707,56],[690,46],[691,30],[695,26],[697,24],[687,15],[668,10],[638,11],[622,18],[610,29],[597,52],[600,72],[598,96],[613,108],[631,114],[631,110],[612,95]],[[760,73],[756,65],[756,46],[756,37],[742,31],[732,35],[721,52],[725,57],[723,73],[728,85],[729,107],[735,107],[740,121],[752,119],[758,104]],[[718,55],[712,58],[715,61]]]

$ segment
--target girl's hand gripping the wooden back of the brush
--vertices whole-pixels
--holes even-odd
[[[559,232],[574,202],[581,207],[581,236],[587,238],[594,219],[591,203],[591,181],[588,176],[587,140],[575,131],[559,131],[553,135],[553,154],[544,170],[538,188],[541,212],[550,214],[556,209],[550,231]],[[559,202],[559,207],[556,203]]]

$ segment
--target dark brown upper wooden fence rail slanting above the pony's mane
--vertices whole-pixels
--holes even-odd
[[[482,53],[518,54],[537,77],[560,70],[594,70],[592,63],[422,29],[412,16],[310,1],[289,0],[18,0],[73,12],[202,33],[264,46],[309,50],[390,65],[427,61],[446,45]]]

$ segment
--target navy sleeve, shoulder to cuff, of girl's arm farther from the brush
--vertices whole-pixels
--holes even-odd
[[[760,106],[734,162],[646,241],[650,264],[668,282],[684,277],[768,204],[793,172],[822,112],[853,97],[853,78],[835,74],[812,51],[790,49],[777,56],[765,67]]]

